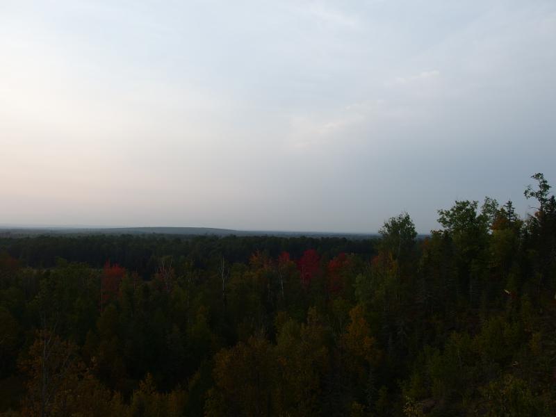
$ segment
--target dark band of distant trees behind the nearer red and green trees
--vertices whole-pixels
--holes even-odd
[[[250,256],[258,250],[263,250],[269,256],[288,252],[299,257],[307,249],[318,250],[325,256],[340,252],[368,255],[373,250],[375,240],[306,236],[45,234],[23,238],[0,236],[0,251],[18,259],[22,265],[35,268],[52,268],[60,258],[70,262],[88,263],[94,268],[102,268],[109,260],[149,279],[164,256],[171,256],[174,265],[187,260],[193,262],[196,268],[206,269],[222,256],[231,263],[247,263]]]

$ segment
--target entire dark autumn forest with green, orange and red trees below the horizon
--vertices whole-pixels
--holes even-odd
[[[556,199],[418,238],[0,238],[2,416],[554,416]]]

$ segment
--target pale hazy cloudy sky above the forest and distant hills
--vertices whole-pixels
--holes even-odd
[[[555,156],[554,0],[0,0],[3,225],[426,233]]]

